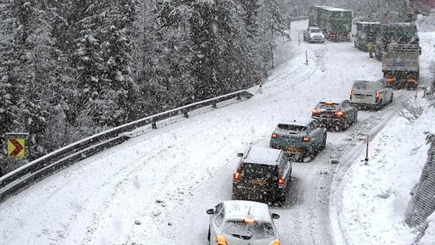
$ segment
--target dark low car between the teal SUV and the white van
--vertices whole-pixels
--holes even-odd
[[[349,100],[342,100],[340,103],[319,102],[313,109],[311,118],[328,128],[346,130],[358,120],[358,108]]]

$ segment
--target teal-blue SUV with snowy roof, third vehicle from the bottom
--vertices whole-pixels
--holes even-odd
[[[304,161],[311,160],[325,148],[327,129],[313,118],[297,118],[280,122],[271,136],[270,147],[282,149],[288,156]]]

